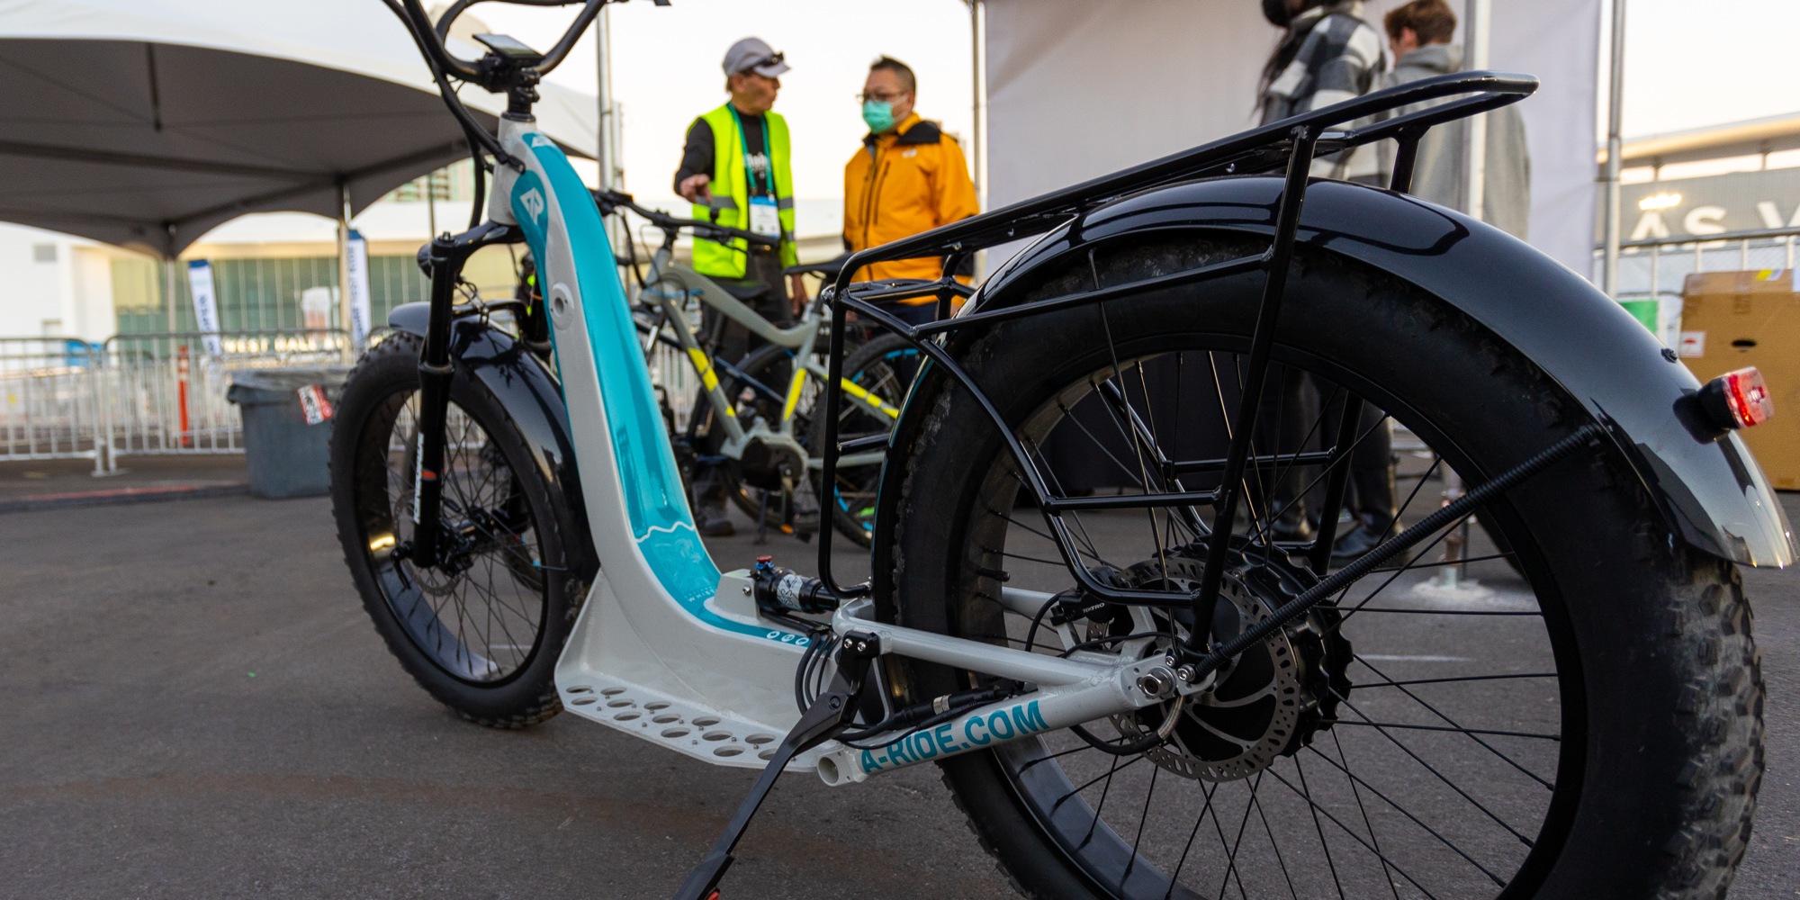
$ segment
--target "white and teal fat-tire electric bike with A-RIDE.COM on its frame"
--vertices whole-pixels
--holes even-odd
[[[716,896],[783,772],[855,790],[927,761],[1037,898],[1728,889],[1764,769],[1737,565],[1795,558],[1735,434],[1768,391],[1753,371],[1697,382],[1580,277],[1404,194],[1427,128],[1534,79],[1415,81],[853,256],[828,299],[823,477],[884,463],[875,576],[839,583],[832,529],[817,576],[720,572],[693,531],[599,214],[529,115],[601,0],[549,52],[482,36],[481,61],[443,43],[470,0],[436,27],[387,4],[493,187],[432,241],[428,308],[396,311],[344,391],[346,558],[452,709],[567,709],[761,769],[677,898]],[[499,135],[452,77],[508,94]],[[1444,103],[1355,124],[1424,101]],[[1309,178],[1316,155],[1384,139],[1391,189]],[[1022,238],[954,319],[882,306],[949,308],[952,279],[848,281]],[[452,302],[461,261],[497,241],[540,263],[560,378]],[[851,313],[923,360],[886,434],[841,427]],[[1289,369],[1318,410],[1267,437]],[[1436,463],[1408,472],[1399,535],[1336,565],[1364,403]],[[416,450],[392,450],[414,419]],[[1265,527],[1294,472],[1307,540]],[[1445,472],[1467,491],[1418,502]],[[1519,587],[1413,590],[1476,513]]]

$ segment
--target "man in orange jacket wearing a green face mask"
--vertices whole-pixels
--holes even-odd
[[[866,250],[979,212],[976,185],[956,139],[913,112],[918,79],[893,58],[869,67],[862,85],[862,121],[869,133],[844,166],[844,248]],[[968,274],[968,272],[958,272]],[[875,263],[857,281],[936,279],[940,259]],[[932,297],[907,301],[931,317]]]

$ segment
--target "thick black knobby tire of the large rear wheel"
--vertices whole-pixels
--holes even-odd
[[[1121,283],[1255,250],[1150,247],[1102,261],[1098,274],[1102,284]],[[1084,263],[1042,295],[1087,290],[1091,277]],[[1246,275],[1204,293],[1121,301],[1109,308],[1111,333],[1120,344],[1184,331],[1242,340],[1260,288],[1260,275]],[[1080,362],[1064,360],[1094,358],[1098,333],[1094,308],[1067,310],[961,337],[952,353],[1019,423],[1069,376],[1085,374],[1076,373]],[[1465,472],[1492,475],[1586,421],[1510,346],[1445,304],[1337,257],[1296,261],[1278,342],[1404,394],[1393,409],[1404,400],[1447,428],[1467,455]],[[1408,371],[1429,378],[1408,382]],[[913,400],[929,418],[896,448],[902,493],[880,524],[887,540],[877,544],[873,563],[875,572],[891,572],[877,578],[886,617],[952,634],[959,605],[997,589],[977,585],[985,560],[970,547],[970,522],[981,515],[972,504],[985,502],[988,461],[1003,452],[992,423],[959,394],[940,373]],[[1580,752],[1562,754],[1559,792],[1544,814],[1548,841],[1521,871],[1535,882],[1535,896],[1723,898],[1748,846],[1764,770],[1764,686],[1750,607],[1735,567],[1672,540],[1620,459],[1577,459],[1510,495],[1496,517],[1512,524],[1514,544],[1528,544],[1521,551],[1550,581],[1532,587],[1546,617],[1550,605],[1561,607],[1553,617],[1570,635],[1579,684],[1562,704],[1586,720],[1586,733],[1564,736]],[[1559,652],[1559,668],[1561,661]],[[965,686],[958,673],[916,666],[904,689],[916,700]],[[981,844],[1021,893],[1120,896],[1048,837],[997,752],[940,765]]]

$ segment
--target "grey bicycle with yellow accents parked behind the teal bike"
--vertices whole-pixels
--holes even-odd
[[[776,527],[801,538],[819,527],[817,520],[808,522],[796,515],[806,495],[812,495],[821,504],[832,504],[828,515],[839,531],[868,545],[873,533],[868,518],[873,508],[862,499],[878,481],[882,454],[862,452],[842,457],[837,475],[839,493],[833,500],[824,500],[826,493],[819,482],[823,461],[814,443],[819,434],[814,425],[814,401],[826,376],[826,347],[821,340],[828,315],[824,297],[814,297],[792,326],[776,326],[727,286],[675,263],[675,239],[684,230],[700,238],[742,239],[761,247],[776,247],[774,238],[644,209],[617,191],[601,191],[596,202],[603,216],[623,218],[625,211],[630,211],[662,232],[662,243],[650,256],[648,272],[641,275],[634,313],[644,356],[652,358],[659,346],[673,349],[684,356],[700,383],[684,425],[677,421],[668,392],[659,394],[682,468],[693,472],[697,463],[724,461],[720,475],[725,479],[725,495],[760,527]],[[635,243],[628,247],[626,259],[635,274]],[[790,272],[794,270],[810,266],[792,266]],[[761,338],[763,346],[742,360],[722,358],[716,340],[709,344],[695,328],[693,313],[698,308],[715,310],[722,322],[736,322]],[[909,349],[896,335],[878,335],[873,342],[871,355]],[[900,416],[904,385],[891,380],[877,383],[864,378],[864,382],[869,383],[855,376],[844,380],[848,405],[862,416],[859,428],[886,432]]]

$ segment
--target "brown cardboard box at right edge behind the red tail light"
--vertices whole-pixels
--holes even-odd
[[[1755,365],[1775,418],[1742,432],[1769,484],[1800,491],[1800,293],[1791,270],[1699,272],[1681,286],[1681,362],[1701,382]]]

